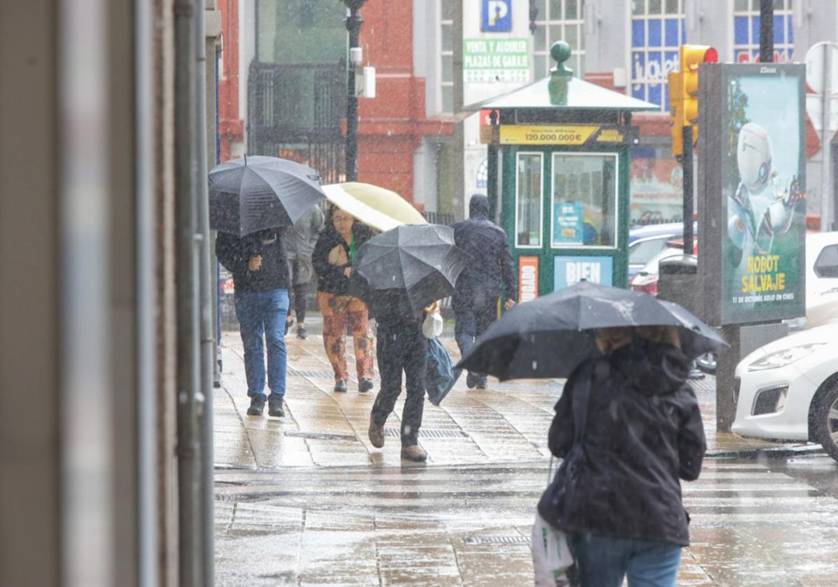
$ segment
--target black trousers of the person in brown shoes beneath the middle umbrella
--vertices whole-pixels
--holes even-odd
[[[427,369],[427,338],[422,325],[405,322],[386,329],[379,327],[378,371],[381,388],[372,407],[372,420],[384,425],[401,393],[401,371],[405,371],[407,397],[401,413],[401,445],[416,444],[425,407],[425,370]]]

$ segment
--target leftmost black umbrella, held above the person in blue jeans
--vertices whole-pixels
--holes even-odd
[[[245,157],[209,172],[209,227],[245,236],[291,226],[324,200],[318,174],[277,157]]]

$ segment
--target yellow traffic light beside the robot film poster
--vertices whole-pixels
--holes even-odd
[[[692,139],[698,141],[698,66],[716,63],[716,49],[705,44],[680,46],[680,71],[670,73],[667,81],[670,90],[670,119],[672,121],[672,153],[683,155],[683,129],[692,127]]]

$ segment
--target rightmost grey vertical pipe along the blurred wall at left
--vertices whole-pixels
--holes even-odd
[[[200,387],[196,390],[198,397],[198,418],[200,425],[200,563],[202,584],[214,584],[215,548],[213,537],[215,532],[215,496],[213,494],[213,362],[215,358],[215,335],[212,329],[213,295],[212,295],[212,259],[209,252],[209,194],[207,186],[207,157],[215,159],[215,149],[212,154],[207,148],[207,51],[206,31],[204,26],[204,0],[194,0],[195,7],[195,195],[197,223],[196,243],[199,247],[199,328],[200,328]],[[215,45],[215,41],[212,43]],[[215,76],[214,76],[215,77]],[[215,92],[215,80],[211,86]],[[213,113],[212,120],[215,120]],[[213,136],[215,139],[215,133]]]

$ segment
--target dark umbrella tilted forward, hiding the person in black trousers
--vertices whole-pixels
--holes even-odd
[[[419,314],[454,293],[471,257],[454,245],[454,231],[437,224],[396,226],[360,247],[349,293],[368,305],[400,304]]]

